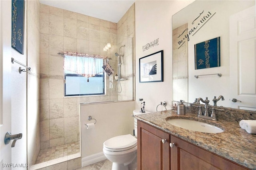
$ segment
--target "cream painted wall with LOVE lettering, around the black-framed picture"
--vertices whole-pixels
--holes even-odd
[[[156,111],[160,102],[172,102],[172,15],[186,7],[192,1],[136,1],[135,37],[136,37],[136,101],[143,98],[147,111]],[[159,38],[159,45],[146,51],[142,46]],[[139,83],[139,59],[157,51],[164,51],[164,82]],[[140,108],[139,102],[136,108]],[[161,107],[164,109],[164,107]],[[158,111],[160,107],[158,107]]]

